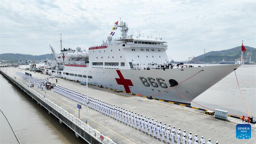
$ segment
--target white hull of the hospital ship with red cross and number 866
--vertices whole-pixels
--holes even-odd
[[[92,78],[88,77],[88,83],[102,85],[103,87],[108,87],[125,92],[131,92],[136,94],[141,93],[143,96],[153,95],[153,98],[161,100],[169,100],[180,103],[190,103],[190,100],[195,99],[198,95],[209,89],[214,84],[218,83],[221,79],[226,77],[228,74],[233,72],[234,69],[240,66],[241,64],[194,68],[172,68],[166,69],[165,71],[161,69],[132,70],[90,68],[89,66],[88,76],[92,76]],[[61,72],[61,74],[58,77],[66,77],[67,79],[75,81],[86,81],[86,78],[84,77],[66,75],[66,73],[86,75],[86,69],[87,68],[83,67],[65,66],[65,69],[62,71],[48,69],[47,74],[54,75],[57,74],[57,72]],[[142,77],[144,77],[145,79]],[[160,80],[157,82],[156,78]],[[150,84],[149,79],[150,81],[152,81],[152,84]],[[173,88],[171,87],[172,89],[170,89],[170,79],[177,81],[179,85]],[[159,82],[163,82],[167,86],[165,86],[165,84],[163,83],[159,84]]]

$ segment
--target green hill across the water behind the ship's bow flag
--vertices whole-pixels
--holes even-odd
[[[244,46],[244,47],[246,51],[243,54],[243,59],[246,59],[247,52],[251,52],[252,61],[256,61],[256,48],[249,47],[249,46]],[[220,62],[223,59],[225,61],[235,61],[240,56],[241,56],[241,46],[237,46],[235,48],[228,49],[228,50],[207,52],[203,55],[197,56],[196,59],[201,62],[212,63],[213,61]]]

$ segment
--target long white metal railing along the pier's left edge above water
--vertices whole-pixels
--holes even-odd
[[[4,71],[2,71],[4,72]],[[7,73],[5,73],[5,75],[8,75],[10,78],[12,78],[14,81],[16,81],[18,84],[20,84],[21,86],[23,86],[25,89],[27,89],[29,92],[33,93],[36,97],[38,97],[40,100],[44,101],[46,104],[48,104],[51,108],[55,109],[56,111],[58,111],[62,116],[65,116],[66,118],[68,118],[71,122],[73,122],[74,124],[76,124],[76,126],[80,127],[82,130],[84,130],[84,132],[88,133],[89,135],[91,135],[95,140],[98,140],[99,142],[103,143],[103,144],[116,144],[116,142],[114,142],[113,140],[109,139],[107,136],[103,135],[102,133],[98,132],[97,130],[93,129],[91,126],[89,126],[88,124],[85,124],[83,121],[81,121],[80,119],[78,119],[77,117],[75,117],[74,115],[68,113],[66,110],[64,110],[63,108],[59,107],[58,105],[56,105],[55,103],[53,103],[52,101],[44,98],[44,96],[42,96],[41,94],[39,94],[38,92],[34,91],[33,89],[31,89],[30,87],[28,87],[28,85],[23,84],[22,82],[20,82],[19,80],[16,79],[16,77],[13,77]],[[46,108],[46,107],[45,107]],[[46,108],[47,109],[47,108]]]

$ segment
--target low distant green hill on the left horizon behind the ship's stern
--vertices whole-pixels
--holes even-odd
[[[8,61],[18,61],[21,60],[46,60],[51,59],[52,54],[43,54],[43,55],[30,55],[30,54],[20,54],[20,53],[3,53],[0,54],[0,60],[8,60]],[[53,58],[53,56],[52,56]]]

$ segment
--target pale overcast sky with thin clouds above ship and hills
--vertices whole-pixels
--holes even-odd
[[[49,44],[88,49],[107,40],[113,23],[128,35],[163,38],[167,54],[188,60],[206,52],[256,47],[256,2],[251,1],[0,1],[0,53],[47,54]],[[93,36],[92,36],[93,33]],[[115,36],[120,36],[117,31]],[[93,38],[92,38],[93,37]]]

